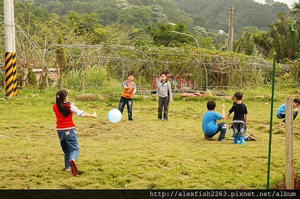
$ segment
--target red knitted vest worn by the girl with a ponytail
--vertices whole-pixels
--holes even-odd
[[[59,113],[58,108],[56,106],[56,103],[53,104],[53,111],[56,116],[56,130],[61,131],[61,130],[70,130],[74,129],[75,125],[73,123],[73,113],[71,112],[71,103],[63,103],[63,105],[70,110],[70,114],[66,117],[63,117],[61,113]]]

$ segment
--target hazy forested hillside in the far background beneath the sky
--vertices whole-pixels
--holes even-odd
[[[117,7],[117,0],[33,0],[33,4],[41,6],[48,12],[54,11],[65,15],[68,10],[78,13],[96,12],[99,14],[99,22],[106,25],[117,21],[123,7]],[[184,22],[188,29],[199,25],[211,29],[226,30],[228,23],[227,12],[230,4],[234,5],[234,28],[235,31],[244,26],[253,26],[258,29],[267,29],[267,25],[277,20],[276,13],[284,11],[288,13],[289,8],[285,3],[272,2],[268,4],[257,3],[254,0],[118,0],[120,3],[147,6],[152,10],[152,20],[155,22]],[[137,8],[138,8],[137,7]],[[144,8],[145,10],[145,8]],[[174,12],[177,11],[177,12]],[[197,17],[191,18],[180,13]],[[161,14],[161,18],[153,16]],[[165,15],[165,17],[164,17]],[[156,19],[156,20],[155,20]],[[147,21],[147,20],[144,20]]]

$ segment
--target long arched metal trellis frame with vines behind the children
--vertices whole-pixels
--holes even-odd
[[[65,54],[56,53],[62,48]],[[66,60],[65,65],[58,66],[57,59],[62,56]],[[266,75],[272,69],[272,64],[261,58],[213,53],[205,49],[69,44],[45,45],[43,55],[35,55],[30,65],[41,70],[36,72],[41,73],[39,85],[46,72],[50,74],[46,84],[78,90],[116,90],[121,88],[129,71],[135,73],[135,82],[141,91],[155,90],[161,71],[170,74],[168,77],[174,90],[226,89],[253,83],[265,84]],[[287,64],[279,64],[278,67],[282,71],[290,69]]]

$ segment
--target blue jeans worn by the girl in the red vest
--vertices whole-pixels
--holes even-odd
[[[64,168],[70,168],[69,161],[77,160],[79,145],[75,129],[57,131],[61,149],[64,153]]]

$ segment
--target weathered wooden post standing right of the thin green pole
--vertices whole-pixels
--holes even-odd
[[[293,190],[293,102],[287,97],[285,102],[285,189]]]

